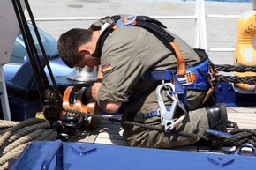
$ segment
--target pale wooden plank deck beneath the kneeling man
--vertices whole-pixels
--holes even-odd
[[[240,129],[256,129],[256,107],[228,107],[230,121],[236,122]],[[106,115],[119,119],[121,115]],[[116,144],[126,146],[122,137],[123,129],[119,122],[101,120],[98,129],[80,130],[77,137],[69,137],[69,142],[82,142],[91,144]],[[192,152],[225,152],[234,148],[223,147],[219,151],[213,151],[205,146],[191,145],[175,148],[175,150]]]

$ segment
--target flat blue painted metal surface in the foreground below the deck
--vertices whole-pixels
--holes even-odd
[[[61,147],[63,145],[63,147]],[[52,153],[61,153],[62,159],[51,159]],[[50,153],[49,153],[50,152]],[[50,155],[50,157],[47,157]],[[59,157],[59,156],[56,156]],[[57,165],[65,170],[134,170],[134,169],[255,169],[256,158],[206,152],[181,152],[162,149],[135,148],[109,144],[64,143],[37,141],[29,144],[19,158],[9,162],[9,170],[40,170],[43,162],[51,162],[49,170]],[[51,161],[49,160],[51,159]]]

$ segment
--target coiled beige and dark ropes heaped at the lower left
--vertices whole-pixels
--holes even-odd
[[[50,123],[43,119],[31,118],[23,122],[0,121],[1,128],[7,129],[0,137],[0,169],[8,169],[8,160],[17,158],[27,144],[33,141],[51,141],[58,137]]]

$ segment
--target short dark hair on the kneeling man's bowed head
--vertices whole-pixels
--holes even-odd
[[[78,54],[81,45],[92,40],[92,30],[73,28],[63,33],[57,41],[57,50],[63,62],[73,68],[84,57]]]

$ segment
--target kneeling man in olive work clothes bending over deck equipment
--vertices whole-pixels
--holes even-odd
[[[113,18],[102,18],[94,22],[89,29],[72,29],[62,34],[58,40],[59,55],[69,67],[100,65],[97,81],[91,87],[91,94],[104,111],[115,113],[125,103],[122,117],[124,121],[140,122],[161,129],[162,116],[153,114],[160,108],[160,101],[156,99],[155,91],[159,85],[166,87],[169,84],[165,84],[167,81],[161,79],[147,78],[146,75],[154,71],[177,70],[179,52],[184,58],[186,68],[201,63],[201,59],[189,45],[173,33],[170,34],[175,38],[173,42],[177,45],[178,51],[173,50],[174,46],[170,48],[169,43],[162,41],[162,36],[142,26],[116,26],[113,30],[112,28],[115,27]],[[136,17],[118,16],[118,18],[133,22]],[[173,81],[177,80],[176,75],[173,77],[169,82],[176,82],[175,84],[178,85],[177,81]],[[208,85],[207,82],[204,85]],[[176,93],[172,96],[166,95],[165,90],[160,92],[160,96],[165,107],[169,108],[173,102],[171,98],[176,96]],[[225,105],[200,108],[207,89],[187,88],[186,91],[184,107],[188,114],[184,116],[182,122],[178,122],[173,129],[165,132],[122,124],[124,138],[128,144],[139,147],[171,148],[193,144],[200,138],[178,136],[177,133],[168,133],[169,131],[184,131],[202,136],[207,135],[205,129],[226,131]],[[177,111],[173,113],[174,121],[184,113],[180,109],[182,106],[179,105]]]

